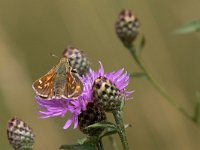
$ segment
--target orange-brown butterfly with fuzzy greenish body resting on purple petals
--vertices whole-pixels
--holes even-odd
[[[62,57],[56,66],[33,83],[32,88],[38,96],[46,100],[75,99],[83,91],[83,82],[70,66],[68,58]]]

